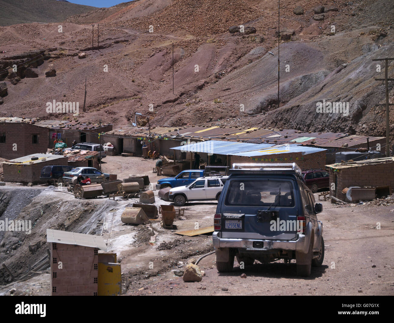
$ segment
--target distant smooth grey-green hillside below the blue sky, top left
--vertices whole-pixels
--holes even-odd
[[[60,22],[96,9],[57,0],[0,0],[0,26],[29,22]]]

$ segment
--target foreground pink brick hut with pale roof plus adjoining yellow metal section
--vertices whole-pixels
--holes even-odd
[[[98,296],[121,293],[116,254],[106,252],[101,236],[46,230],[50,243],[51,295]]]

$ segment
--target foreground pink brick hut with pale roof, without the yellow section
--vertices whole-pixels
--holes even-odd
[[[107,251],[100,236],[46,230],[50,242],[51,295],[97,296],[99,249]]]

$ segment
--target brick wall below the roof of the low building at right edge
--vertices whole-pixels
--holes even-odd
[[[346,194],[342,189],[350,186],[386,186],[394,188],[394,163],[355,166],[342,169],[329,169],[330,195],[345,201]],[[331,189],[335,183],[335,190]]]

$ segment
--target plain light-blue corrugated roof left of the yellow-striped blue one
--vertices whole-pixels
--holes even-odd
[[[210,154],[230,155],[230,154],[245,152],[249,150],[265,149],[272,146],[273,145],[267,143],[255,144],[255,143],[238,143],[235,141],[207,140],[207,141],[191,143],[189,145],[174,147],[171,149],[191,151],[191,152],[205,152]]]

